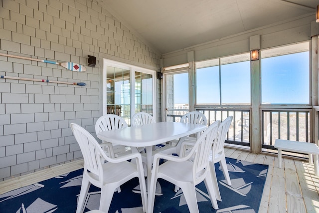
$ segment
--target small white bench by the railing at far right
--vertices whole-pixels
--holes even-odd
[[[298,142],[298,141],[288,141],[276,139],[275,148],[278,149],[278,167],[281,168],[281,152],[282,150],[291,151],[291,152],[299,152],[309,155],[309,163],[313,163],[313,155],[314,155],[314,167],[315,167],[315,175],[319,176],[319,147],[314,143],[306,143],[306,142]]]

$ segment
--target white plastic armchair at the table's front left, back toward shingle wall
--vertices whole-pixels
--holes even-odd
[[[101,188],[99,210],[107,213],[114,190],[135,177],[139,178],[143,210],[146,212],[147,194],[141,154],[131,153],[123,157],[110,158],[88,131],[74,123],[71,123],[70,127],[84,158],[82,185],[76,213],[84,211],[86,196],[91,184]],[[135,159],[136,164],[128,162],[131,159]],[[103,164],[104,160],[107,162]]]

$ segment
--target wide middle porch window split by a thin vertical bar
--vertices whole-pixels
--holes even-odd
[[[196,105],[250,104],[249,53],[196,62]]]

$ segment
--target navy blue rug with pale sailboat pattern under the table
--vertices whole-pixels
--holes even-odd
[[[196,186],[200,213],[257,213],[262,197],[268,165],[226,158],[232,186],[228,186],[219,164],[215,164],[222,202],[214,210],[204,183]],[[0,213],[75,213],[83,169],[0,195]],[[142,213],[138,179],[115,192],[110,213]],[[154,213],[187,213],[188,208],[174,185],[159,180]],[[84,212],[99,208],[100,189],[91,185]]]

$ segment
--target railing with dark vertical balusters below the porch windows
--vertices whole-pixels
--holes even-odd
[[[208,124],[234,116],[229,128],[226,143],[250,146],[251,113],[250,109],[196,108],[202,112]],[[168,109],[167,121],[179,122],[187,109]],[[262,109],[261,146],[263,151],[276,150],[275,139],[311,142],[312,109]]]

